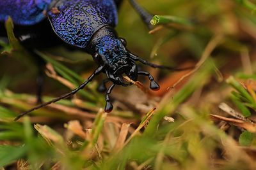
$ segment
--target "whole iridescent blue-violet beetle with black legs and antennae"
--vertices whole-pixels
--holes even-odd
[[[152,15],[141,8],[136,1],[129,1],[143,22],[150,27]],[[77,89],[35,106],[31,110],[21,113],[15,120],[31,111],[76,94],[99,73],[104,73],[107,76],[107,79],[99,86],[100,90],[106,90],[106,112],[113,110],[109,94],[115,85],[124,87],[131,85],[124,81],[124,75],[133,81],[138,79],[139,74],[148,76],[150,89],[159,89],[159,85],[150,73],[138,71],[136,62],[139,61],[155,68],[175,69],[152,64],[127,50],[125,39],[119,38],[114,29],[117,24],[117,9],[121,2],[122,0],[1,0],[0,21],[4,22],[6,17],[12,17],[17,28],[14,31],[15,36],[26,48],[51,46],[60,42],[61,39],[68,45],[83,48],[92,55],[93,60],[99,65]],[[44,29],[42,29],[42,25],[44,25]],[[39,44],[35,43],[36,41]],[[105,85],[107,81],[113,83],[108,89]]]

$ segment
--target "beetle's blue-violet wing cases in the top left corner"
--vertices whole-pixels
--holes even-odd
[[[1,0],[0,22],[12,17],[14,24],[34,25],[45,18],[52,0]]]

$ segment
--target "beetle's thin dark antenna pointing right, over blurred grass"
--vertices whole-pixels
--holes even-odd
[[[184,70],[194,68],[193,66],[192,67],[184,67],[184,68],[162,66],[162,65],[154,64],[152,62],[148,62],[147,60],[143,60],[140,57],[138,57],[137,55],[134,55],[133,53],[130,53],[130,57],[131,57],[132,60],[140,61],[142,64],[145,64],[147,66],[154,67],[154,68],[159,68],[159,69],[168,69],[168,70],[171,70],[171,71],[184,71]]]

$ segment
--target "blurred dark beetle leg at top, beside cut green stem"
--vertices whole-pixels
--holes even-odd
[[[129,2],[131,3],[134,10],[137,11],[137,13],[140,15],[141,19],[147,25],[148,29],[151,30],[153,26],[150,24],[150,20],[152,19],[153,15],[144,8],[142,8],[140,4],[136,2],[136,0],[129,0]]]

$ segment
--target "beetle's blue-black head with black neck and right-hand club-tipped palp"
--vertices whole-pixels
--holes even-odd
[[[128,76],[131,80],[137,81],[138,74],[148,76],[150,80],[150,89],[157,90],[157,85],[154,78],[145,71],[138,72],[136,61],[140,57],[133,55],[126,48],[126,41],[118,38],[115,30],[110,25],[106,25],[93,34],[90,44],[86,47],[86,52],[94,53],[93,59],[104,69],[108,79],[115,85],[131,85],[126,83],[123,76]],[[141,60],[140,60],[141,61]],[[148,62],[143,61],[143,64]]]

